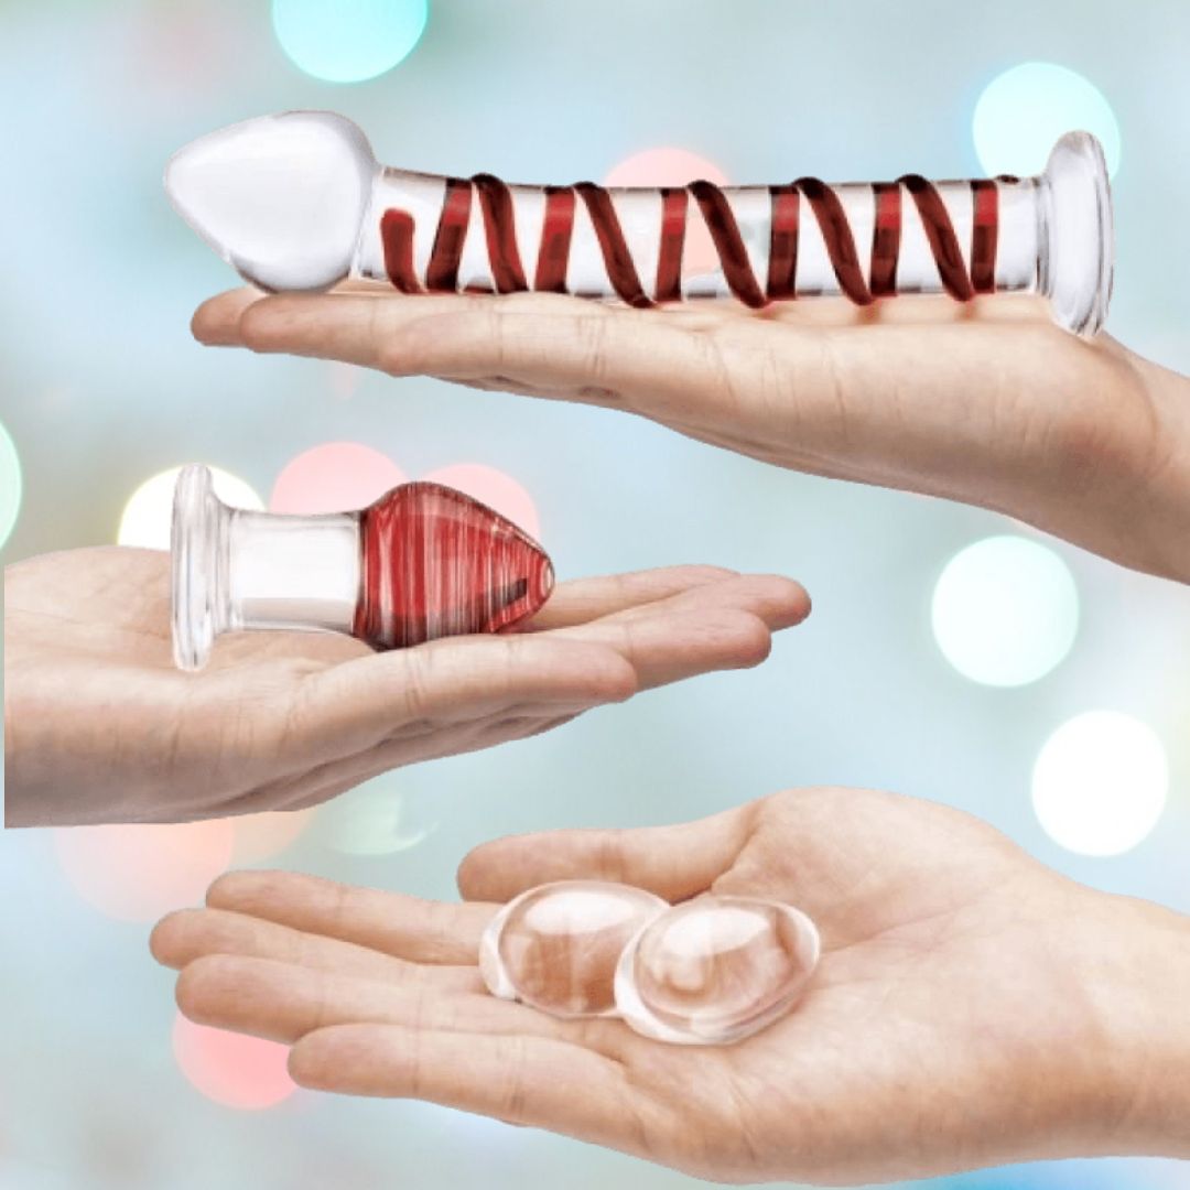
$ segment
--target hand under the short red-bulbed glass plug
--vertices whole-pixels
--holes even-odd
[[[164,553],[31,558],[6,568],[5,601],[13,826],[303,808],[399,765],[756,665],[770,633],[809,610],[788,580],[678,566],[564,583],[522,633],[400,652],[237,633],[194,675],[170,657]]]

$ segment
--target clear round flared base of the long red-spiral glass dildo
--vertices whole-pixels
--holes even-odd
[[[1098,140],[1067,132],[1041,182],[1041,290],[1059,326],[1091,338],[1107,318],[1115,267],[1111,189]]]

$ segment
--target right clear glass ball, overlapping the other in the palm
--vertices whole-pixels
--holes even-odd
[[[801,910],[699,897],[656,917],[625,947],[615,1003],[646,1036],[728,1045],[788,1013],[818,960],[818,929]]]

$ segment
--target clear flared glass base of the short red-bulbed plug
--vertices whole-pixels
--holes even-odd
[[[214,589],[224,506],[214,494],[211,471],[190,464],[174,488],[170,530],[174,594],[174,664],[190,672],[202,669],[218,634]]]

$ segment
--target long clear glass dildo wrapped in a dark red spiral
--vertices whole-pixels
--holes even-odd
[[[734,296],[1036,293],[1092,336],[1111,290],[1111,200],[1098,142],[1071,132],[1036,177],[828,186],[511,186],[380,165],[333,112],[284,112],[178,150],[165,189],[242,276],[268,290],[347,277],[403,293],[533,289],[633,306]],[[718,267],[694,273],[688,228]]]

